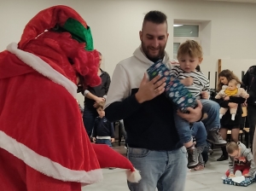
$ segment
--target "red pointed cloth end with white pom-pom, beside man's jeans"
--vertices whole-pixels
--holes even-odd
[[[108,145],[92,144],[92,147],[94,148],[101,168],[117,167],[127,169],[126,176],[129,182],[139,182],[141,180],[142,177],[139,171],[131,165],[129,159],[126,159],[123,155],[108,147]]]

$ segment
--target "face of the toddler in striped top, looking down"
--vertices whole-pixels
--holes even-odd
[[[178,62],[180,68],[183,69],[184,72],[195,72],[195,67],[200,65],[202,58],[199,57],[190,57],[189,54],[181,55],[178,58]]]

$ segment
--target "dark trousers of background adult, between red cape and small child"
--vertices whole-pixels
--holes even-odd
[[[90,109],[88,107],[84,107],[84,114],[83,114],[84,127],[89,137],[92,134],[94,122],[98,115],[99,114],[97,113],[95,108]]]

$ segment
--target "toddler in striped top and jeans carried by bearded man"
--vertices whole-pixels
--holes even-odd
[[[177,50],[177,60],[179,64],[172,67],[172,75],[178,78],[189,89],[192,95],[197,99],[201,99],[203,113],[207,113],[207,119],[203,121],[207,128],[208,137],[206,138],[213,144],[225,145],[226,142],[218,134],[220,125],[218,103],[209,100],[209,80],[202,72],[196,71],[196,67],[203,60],[201,45],[194,40],[187,40],[185,43],[182,43]],[[188,167],[193,168],[198,165],[198,153],[193,143],[189,122],[177,115],[176,108],[174,119],[180,140],[187,148],[188,154],[192,155],[188,157]]]

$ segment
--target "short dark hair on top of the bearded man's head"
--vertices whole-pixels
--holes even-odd
[[[166,23],[167,25],[167,16],[166,14],[158,11],[158,10],[151,10],[144,16],[143,25],[145,22],[153,22],[154,24],[163,24]]]

